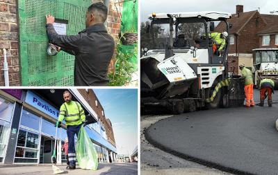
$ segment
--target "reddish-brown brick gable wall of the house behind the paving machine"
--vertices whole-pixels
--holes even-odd
[[[265,23],[259,12],[256,12],[237,36],[238,53],[252,53],[252,49],[259,48],[259,36],[256,33],[263,27],[265,27]],[[236,36],[234,39],[234,44],[229,47],[229,53],[236,53]]]

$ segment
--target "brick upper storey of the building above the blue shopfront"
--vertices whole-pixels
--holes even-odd
[[[92,91],[92,89],[88,89],[88,91],[86,91],[85,89],[79,89],[79,92],[81,93],[83,98],[85,98],[85,100],[90,104],[90,107],[92,107],[92,109],[97,113],[97,116],[100,120],[99,122],[102,122],[104,124],[104,129],[106,130],[108,142],[110,142],[112,145],[116,147],[113,126],[110,120],[105,117],[104,109],[101,106],[99,100],[97,99],[97,96],[95,95],[94,91]],[[104,115],[102,115],[102,111]]]

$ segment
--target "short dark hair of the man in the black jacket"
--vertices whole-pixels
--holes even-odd
[[[98,16],[100,21],[104,22],[107,19],[108,8],[101,1],[97,3],[92,3],[88,8],[88,12],[92,12],[94,15]]]

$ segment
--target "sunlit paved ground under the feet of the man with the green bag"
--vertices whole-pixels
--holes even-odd
[[[52,165],[0,165],[0,174],[26,174],[26,175],[47,175],[53,174]],[[137,163],[99,163],[96,171],[80,169],[78,166],[74,170],[66,169],[67,165],[56,165],[65,170],[63,174],[72,175],[137,175]]]

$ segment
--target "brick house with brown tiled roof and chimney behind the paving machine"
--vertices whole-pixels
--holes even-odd
[[[261,47],[261,38],[265,34],[263,31],[272,32],[269,30],[273,28],[270,23],[272,17],[276,15],[261,15],[257,10],[243,12],[243,6],[236,6],[236,13],[227,20],[232,25],[229,30],[229,59],[236,60],[236,73],[241,63],[252,68],[252,49]],[[222,32],[225,30],[224,24],[221,22],[215,30]]]

